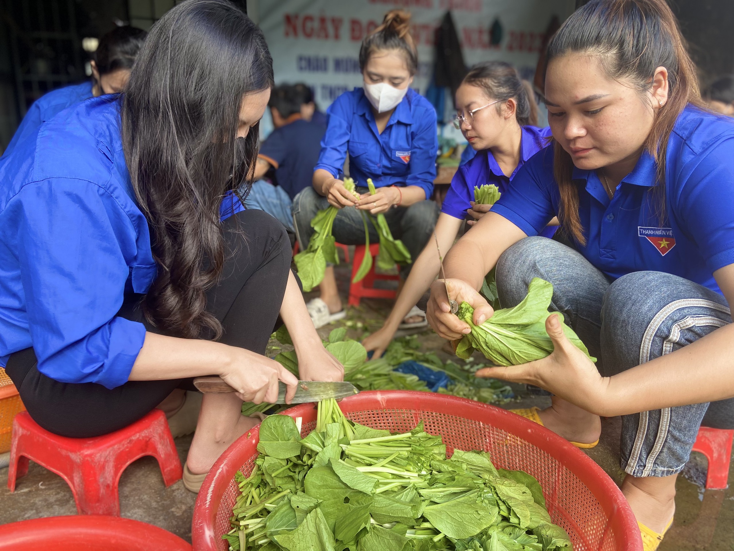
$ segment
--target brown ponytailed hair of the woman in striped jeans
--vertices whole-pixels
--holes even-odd
[[[625,79],[639,93],[650,90],[658,67],[668,71],[668,101],[658,110],[644,147],[657,165],[658,217],[665,219],[665,159],[675,121],[688,104],[703,107],[696,67],[686,51],[675,15],[665,0],[592,0],[568,18],[548,44],[548,62],[571,52],[595,55],[610,79]],[[586,244],[578,216],[573,161],[553,144],[553,172],[559,186],[559,219],[567,234]]]

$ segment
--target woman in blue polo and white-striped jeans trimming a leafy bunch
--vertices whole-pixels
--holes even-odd
[[[722,347],[733,356],[734,123],[700,107],[675,16],[664,0],[593,0],[554,35],[548,59],[554,143],[448,254],[451,298],[474,306],[482,323],[493,311],[475,289],[495,263],[503,306],[519,303],[532,278],[551,281],[552,309],[602,375],[648,361],[661,374],[682,363],[695,370]],[[527,237],[556,215],[577,250]],[[427,314],[446,338],[470,332],[450,314],[443,282]],[[553,361],[564,356],[543,365]],[[700,425],[734,427],[731,406],[622,417],[622,492],[646,550],[672,522],[675,478]],[[599,417],[559,397],[526,415],[582,444],[601,431]]]

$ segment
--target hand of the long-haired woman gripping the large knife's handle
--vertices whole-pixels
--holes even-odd
[[[286,403],[291,403],[298,386],[298,379],[293,373],[275,360],[244,348],[231,348],[232,357],[220,376],[225,383],[236,390],[241,400],[252,403],[275,403],[277,383],[283,381],[288,387]]]

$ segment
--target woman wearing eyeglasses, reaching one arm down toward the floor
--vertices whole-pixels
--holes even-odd
[[[530,85],[505,62],[474,65],[457,90],[457,109],[454,126],[477,153],[459,168],[443,201],[436,223],[443,254],[454,244],[465,219],[472,225],[491,208],[474,204],[474,187],[495,184],[504,193],[517,170],[545,147],[551,135],[548,128],[531,126],[537,122],[537,106]],[[541,235],[553,237],[557,224],[557,220],[551,221]],[[382,356],[403,320],[410,321],[410,316],[418,313],[415,303],[439,270],[436,243],[430,240],[415,260],[385,325],[363,342],[367,350],[374,350],[374,357]]]

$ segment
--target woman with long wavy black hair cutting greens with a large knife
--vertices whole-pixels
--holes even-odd
[[[310,323],[285,228],[233,195],[252,179],[272,87],[260,29],[189,0],[150,31],[126,92],[80,104],[0,164],[0,364],[48,431],[97,436],[197,375],[206,395],[184,469],[203,474],[297,379],[263,356],[278,313],[302,379],[341,380]],[[73,159],[73,162],[70,162]]]

